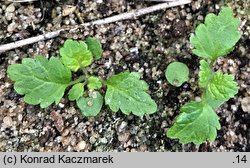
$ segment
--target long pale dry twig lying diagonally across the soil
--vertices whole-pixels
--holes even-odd
[[[111,16],[111,17],[107,17],[104,19],[100,19],[100,20],[96,20],[96,21],[92,21],[92,22],[88,22],[88,23],[83,23],[83,24],[80,24],[77,26],[72,26],[69,28],[64,28],[64,29],[53,31],[53,32],[48,32],[48,33],[45,33],[45,34],[42,34],[42,35],[39,35],[36,37],[31,37],[31,38],[27,38],[24,40],[19,40],[16,42],[0,45],[0,53],[6,52],[8,50],[12,50],[12,49],[15,49],[18,47],[22,47],[22,46],[25,46],[28,44],[33,44],[33,43],[36,43],[38,41],[43,41],[43,40],[55,38],[55,37],[60,35],[60,32],[65,31],[65,30],[78,29],[81,27],[86,27],[86,26],[91,26],[91,25],[103,25],[103,24],[107,24],[107,23],[128,20],[128,19],[136,19],[137,17],[148,14],[148,13],[152,13],[152,12],[162,10],[165,8],[185,5],[188,3],[191,3],[191,0],[179,0],[179,1],[160,3],[160,4],[153,5],[153,6],[150,6],[147,8],[122,13],[122,14],[119,14],[116,16]]]

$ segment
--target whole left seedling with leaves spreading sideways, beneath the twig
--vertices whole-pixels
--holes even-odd
[[[120,109],[124,114],[140,117],[156,112],[157,105],[147,93],[148,85],[140,80],[139,73],[125,71],[107,81],[89,74],[86,67],[101,55],[101,43],[95,38],[68,39],[60,49],[60,58],[24,58],[21,64],[10,65],[7,73],[15,81],[16,92],[24,95],[24,101],[40,104],[41,108],[54,102],[58,104],[65,90],[70,88],[68,99],[76,101],[84,116],[96,116],[104,100],[113,112]],[[72,72],[79,70],[83,75],[72,81]],[[98,91],[103,86],[107,88],[105,98]]]

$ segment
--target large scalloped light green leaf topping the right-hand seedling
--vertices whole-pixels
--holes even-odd
[[[239,25],[240,20],[234,18],[228,7],[222,8],[218,16],[208,14],[205,23],[200,24],[195,35],[190,37],[193,53],[210,60],[230,53],[240,39]]]

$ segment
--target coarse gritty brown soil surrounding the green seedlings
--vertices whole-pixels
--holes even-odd
[[[245,2],[247,1],[247,2]],[[249,0],[194,0],[191,4],[157,11],[127,20],[64,32],[59,37],[17,48],[0,55],[0,151],[250,151],[250,4]],[[0,2],[0,44],[36,36],[68,25],[113,16],[155,3],[139,0],[42,0]],[[67,13],[70,6],[76,7]],[[182,145],[165,132],[181,105],[199,99],[199,58],[192,54],[190,34],[210,13],[230,6],[241,19],[241,39],[235,50],[220,58],[215,69],[236,76],[239,92],[216,112],[222,128],[214,142]],[[83,117],[75,102],[65,96],[58,105],[41,109],[28,105],[7,77],[9,65],[22,58],[58,55],[67,38],[101,39],[104,53],[90,67],[92,74],[107,79],[124,70],[137,71],[149,84],[158,111],[142,118],[104,106],[97,117]],[[190,79],[171,86],[164,71],[172,61],[190,69]]]

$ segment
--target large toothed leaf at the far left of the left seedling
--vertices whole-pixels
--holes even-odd
[[[26,103],[40,104],[42,108],[53,102],[58,104],[71,80],[70,70],[55,57],[24,58],[22,64],[8,67],[8,75],[15,81],[17,93],[25,95]]]

